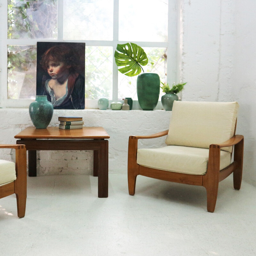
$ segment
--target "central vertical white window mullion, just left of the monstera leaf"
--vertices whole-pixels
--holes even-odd
[[[114,12],[113,12],[113,92],[112,99],[118,98],[118,68],[115,61],[115,50],[118,44],[118,29],[119,29],[119,0],[114,0]]]

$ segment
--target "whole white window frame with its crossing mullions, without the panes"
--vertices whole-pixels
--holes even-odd
[[[54,39],[52,39],[52,40],[50,40],[50,39],[40,39],[40,40],[38,40],[38,39],[34,39],[34,38],[33,39],[28,39],[28,38],[27,39],[7,39],[7,26],[4,26],[6,29],[1,29],[1,31],[0,31],[0,36],[1,37],[0,38],[2,38],[2,39],[0,39],[0,46],[1,46],[0,58],[1,58],[2,66],[0,66],[0,83],[1,83],[1,86],[0,86],[0,107],[3,107],[3,106],[7,107],[7,105],[8,106],[13,105],[13,106],[18,106],[18,107],[22,107],[22,106],[27,107],[29,105],[29,103],[32,101],[32,100],[28,100],[28,99],[18,99],[18,100],[9,99],[9,100],[7,100],[7,67],[5,65],[7,63],[7,45],[8,44],[10,44],[10,45],[16,45],[16,44],[17,45],[36,45],[37,41],[43,41],[43,42],[44,41],[45,42],[59,41],[59,42],[61,42],[61,41],[64,40],[65,42],[77,42],[77,43],[78,42],[85,42],[86,46],[97,46],[97,47],[98,46],[104,46],[104,47],[108,46],[108,47],[113,47],[112,95],[111,94],[108,95],[109,100],[118,100],[118,95],[123,95],[124,94],[124,92],[122,92],[122,90],[124,89],[122,87],[122,84],[119,86],[120,92],[118,93],[118,75],[119,75],[119,71],[118,71],[118,67],[116,66],[115,57],[114,57],[114,53],[115,53],[117,44],[125,44],[127,42],[133,42],[137,45],[140,45],[142,48],[144,48],[144,47],[167,48],[167,82],[169,82],[169,83],[180,82],[179,81],[180,80],[180,71],[179,71],[179,68],[180,68],[179,67],[180,47],[179,47],[179,44],[182,41],[182,37],[180,37],[180,31],[181,30],[179,28],[179,22],[180,22],[179,19],[180,19],[180,15],[181,15],[180,14],[180,5],[181,5],[180,3],[182,2],[181,0],[175,0],[175,1],[168,0],[168,41],[167,42],[164,42],[164,41],[152,42],[151,41],[152,38],[149,39],[149,41],[143,41],[143,40],[147,40],[147,38],[138,37],[138,36],[134,37],[134,39],[136,40],[136,38],[138,38],[138,40],[141,40],[141,41],[134,41],[134,40],[119,41],[119,37],[121,36],[121,34],[119,35],[119,11],[120,11],[119,9],[122,8],[122,6],[121,6],[122,3],[121,3],[121,1],[119,3],[119,0],[113,0],[113,2],[111,1],[113,3],[113,28],[112,28],[113,29],[113,40],[111,40],[111,38],[109,38],[109,37],[106,37],[107,40],[100,40],[100,37],[99,37],[99,39],[96,39],[96,40],[86,40],[86,39],[83,39],[82,37],[81,37],[80,40],[79,40],[79,38],[73,38],[73,37],[70,37],[68,40],[65,40],[65,38],[63,38],[63,36],[64,36],[63,19],[64,19],[64,14],[65,14],[64,13],[65,4],[68,4],[68,2],[66,0],[57,0],[57,1],[58,1],[58,6],[57,6],[57,10],[58,10],[57,33],[58,33],[58,36],[55,40]],[[74,2],[76,2],[76,1],[74,1]],[[164,3],[166,4],[166,1],[164,1]],[[0,7],[0,14],[2,14],[1,16],[4,17],[4,19],[7,21],[7,12],[6,12],[7,3],[5,3],[5,1],[4,1],[2,5],[3,6]],[[55,8],[54,8],[54,10],[56,11]],[[121,16],[120,16],[120,18],[121,18]],[[110,17],[110,19],[111,19],[111,17]],[[165,18],[165,20],[166,20],[166,18]],[[178,26],[177,26],[177,23],[178,23]],[[164,31],[166,32],[166,30],[164,30]],[[166,35],[166,33],[165,33],[165,35]],[[94,37],[92,37],[92,39],[93,38]],[[95,38],[98,38],[98,37],[95,37]],[[105,37],[102,37],[102,39],[104,39],[104,38]],[[157,40],[157,38],[154,39],[154,37],[153,37],[153,40]],[[102,57],[102,58],[104,58],[104,57]],[[110,70],[109,70],[109,68],[110,68]],[[108,74],[109,74],[109,72],[111,72],[111,64],[110,64],[110,66],[108,66],[108,70],[109,70],[108,71]],[[164,77],[163,77],[163,79],[164,79]],[[108,88],[110,86],[111,85],[108,83]],[[134,86],[134,83],[132,84],[132,86]],[[112,99],[110,99],[111,97],[112,97]],[[122,96],[122,97],[124,97],[124,96]],[[89,105],[91,105],[91,101],[92,100],[88,100],[88,102],[90,103]],[[98,100],[97,99],[93,100],[93,104],[95,103],[94,101],[97,102]]]

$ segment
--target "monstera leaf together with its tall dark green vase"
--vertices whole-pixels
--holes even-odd
[[[126,76],[138,76],[137,96],[143,110],[153,110],[160,93],[160,78],[155,73],[144,73],[142,66],[148,64],[148,57],[137,44],[117,44],[114,54],[118,71]],[[143,71],[142,74],[141,71]]]

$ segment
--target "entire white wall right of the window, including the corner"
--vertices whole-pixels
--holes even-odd
[[[182,100],[237,101],[243,179],[256,185],[256,1],[183,0]]]

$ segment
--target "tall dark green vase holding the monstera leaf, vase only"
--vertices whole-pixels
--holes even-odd
[[[160,78],[156,73],[143,73],[137,77],[137,95],[143,110],[154,110],[160,93]]]

